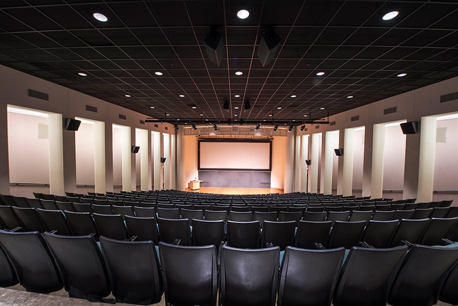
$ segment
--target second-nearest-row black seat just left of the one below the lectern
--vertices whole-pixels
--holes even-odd
[[[160,208],[158,208],[160,209]],[[189,219],[165,219],[157,218],[160,240],[173,244],[181,240],[180,245],[191,245],[191,229]]]

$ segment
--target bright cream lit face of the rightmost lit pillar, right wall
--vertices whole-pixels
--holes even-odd
[[[436,159],[437,119],[421,118],[420,163],[418,168],[417,202],[433,201],[434,162]]]

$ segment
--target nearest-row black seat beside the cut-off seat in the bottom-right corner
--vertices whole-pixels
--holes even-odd
[[[445,277],[457,260],[458,247],[413,245],[396,275],[388,303],[393,306],[436,304]]]

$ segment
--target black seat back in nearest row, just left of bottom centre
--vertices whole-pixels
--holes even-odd
[[[160,242],[159,256],[166,304],[216,306],[218,276],[214,245]]]

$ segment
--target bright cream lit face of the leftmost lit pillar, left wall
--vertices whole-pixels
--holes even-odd
[[[49,192],[64,196],[64,148],[61,114],[48,116],[49,128]]]

